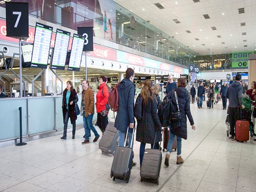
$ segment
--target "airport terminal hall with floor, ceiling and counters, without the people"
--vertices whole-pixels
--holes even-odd
[[[256,0],[0,0],[0,192],[256,192],[256,136],[229,139],[220,98],[237,74],[244,93],[252,89],[255,34]],[[202,108],[190,97],[196,129],[187,119],[184,163],[171,150],[165,166],[161,150],[159,184],[141,181],[136,139],[129,182],[110,177],[114,155],[99,148],[95,105],[97,142],[91,133],[82,145],[81,115],[75,138],[70,120],[60,138],[67,81],[80,107],[85,79],[96,103],[100,76],[113,89],[128,68],[135,100],[151,79],[162,101],[169,75],[185,78],[188,91],[194,85],[197,93],[201,82],[206,92],[211,83],[218,88],[212,108],[207,93]],[[109,121],[115,117],[110,110]]]

